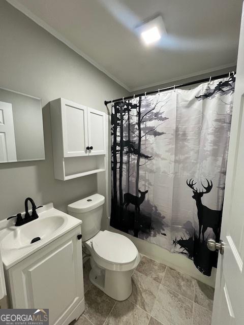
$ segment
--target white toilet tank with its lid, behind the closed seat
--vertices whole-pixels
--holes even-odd
[[[104,202],[105,198],[96,193],[68,205],[68,213],[82,220],[82,241],[94,237],[101,230]]]

